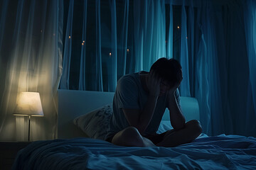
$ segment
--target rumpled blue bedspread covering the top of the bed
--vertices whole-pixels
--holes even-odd
[[[13,169],[256,169],[256,138],[203,135],[178,147],[119,147],[74,138],[32,142]]]

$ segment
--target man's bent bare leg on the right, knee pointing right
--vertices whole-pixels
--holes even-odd
[[[191,142],[196,139],[202,132],[198,120],[191,120],[185,124],[181,130],[169,130],[164,136],[164,140],[156,146],[159,147],[176,147],[181,144]]]

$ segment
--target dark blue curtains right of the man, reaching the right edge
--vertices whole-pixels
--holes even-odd
[[[203,132],[256,136],[255,2],[166,4],[178,8],[168,41],[180,44],[173,57],[183,68],[181,96],[198,99]]]

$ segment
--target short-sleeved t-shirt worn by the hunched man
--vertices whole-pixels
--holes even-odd
[[[142,74],[142,72],[124,75],[117,82],[117,89],[114,93],[113,99],[113,114],[110,118],[110,127],[105,139],[114,136],[117,132],[130,126],[127,119],[125,118],[122,108],[139,109],[141,111],[143,110],[148,98],[148,93],[144,91],[142,87],[139,74]],[[180,106],[178,90],[176,90],[175,95],[178,106]],[[156,133],[167,106],[167,94],[159,96],[153,117],[151,118],[151,121],[143,135],[152,135]]]

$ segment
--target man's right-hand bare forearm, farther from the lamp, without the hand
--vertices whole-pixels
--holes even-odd
[[[181,109],[179,108],[178,103],[176,101],[175,91],[176,89],[171,89],[168,92],[168,108],[170,112],[170,120],[172,127],[174,128],[174,130],[180,130],[184,127],[186,120],[183,114],[181,113]]]

